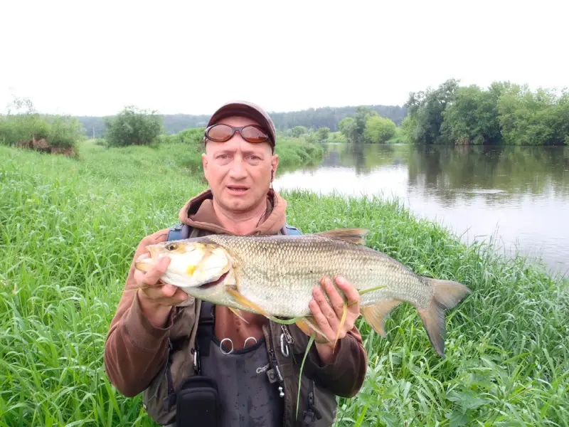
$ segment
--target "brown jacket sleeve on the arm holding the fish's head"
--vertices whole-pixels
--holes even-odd
[[[158,374],[168,349],[172,313],[164,328],[154,327],[141,310],[134,282],[134,260],[147,252],[145,246],[165,241],[168,230],[158,231],[139,243],[129,269],[125,289],[112,319],[105,342],[105,371],[124,396],[144,391]]]

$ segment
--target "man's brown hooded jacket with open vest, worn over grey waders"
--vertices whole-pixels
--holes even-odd
[[[285,225],[286,201],[275,191],[267,194],[267,214],[252,235],[277,234]],[[211,191],[204,191],[190,199],[181,209],[179,219],[193,228],[193,236],[211,233],[229,233],[218,222]],[[139,243],[134,258],[144,253],[144,247],[165,241],[169,229],[158,231]],[[126,288],[134,283],[134,260],[127,277]],[[144,317],[139,306],[137,292],[123,292],[113,318],[105,344],[105,369],[112,384],[125,396],[144,392],[144,406],[149,416],[166,425],[174,422],[176,406],[164,405],[169,396],[167,370],[171,374],[174,391],[181,381],[193,372],[193,349],[201,301],[193,297],[173,307],[166,327],[157,328]],[[296,325],[279,325],[269,322],[263,327],[267,351],[275,371],[280,372],[280,385],[285,391],[285,420],[283,426],[330,426],[336,416],[336,396],[355,396],[366,374],[367,354],[363,349],[361,335],[356,327],[338,344],[334,362],[323,366],[313,346],[304,364],[302,390],[299,400],[299,416],[295,422],[296,397],[300,364],[308,339]],[[282,338],[292,342],[281,350]],[[171,344],[171,350],[169,350]],[[287,354],[288,353],[288,354]],[[166,364],[169,361],[169,367]],[[275,363],[276,362],[276,363]],[[321,418],[314,423],[304,423],[303,413],[309,408],[309,399],[314,401],[315,412]]]

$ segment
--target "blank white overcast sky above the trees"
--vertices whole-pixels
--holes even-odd
[[[402,105],[447,78],[569,86],[569,6],[521,1],[0,0],[0,111]]]

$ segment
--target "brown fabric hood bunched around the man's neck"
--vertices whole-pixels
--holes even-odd
[[[218,234],[233,234],[221,226],[213,209],[213,194],[207,189],[197,196],[189,199],[180,210],[180,222],[194,228],[211,231]],[[252,236],[277,234],[285,226],[287,220],[287,201],[277,191],[269,189],[267,193],[267,212]]]

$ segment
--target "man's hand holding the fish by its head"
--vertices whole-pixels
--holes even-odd
[[[142,253],[149,253],[146,246],[156,243],[155,235],[147,236],[142,239],[134,258],[138,258]],[[140,270],[134,271],[134,283],[137,290],[139,305],[144,315],[155,327],[164,327],[171,308],[188,299],[188,294],[174,285],[167,285],[161,282],[160,277],[166,272],[170,258],[165,257],[144,273]]]

